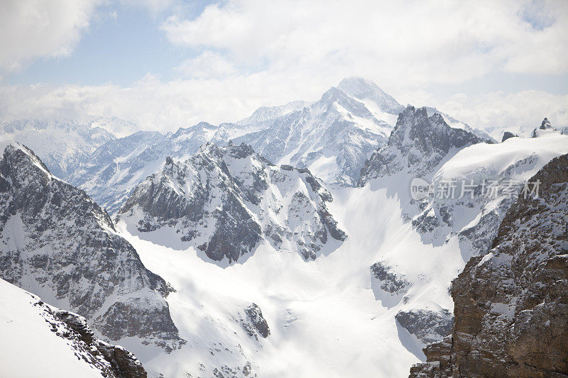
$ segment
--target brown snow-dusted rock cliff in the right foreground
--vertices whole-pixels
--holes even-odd
[[[498,228],[493,248],[454,280],[454,377],[565,377],[568,374],[568,155],[530,179]],[[448,348],[444,348],[447,352]],[[411,377],[430,377],[432,357]],[[441,365],[441,364],[440,364]]]

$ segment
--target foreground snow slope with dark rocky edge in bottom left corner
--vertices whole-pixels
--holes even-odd
[[[128,350],[94,337],[85,319],[0,279],[2,377],[143,378]]]

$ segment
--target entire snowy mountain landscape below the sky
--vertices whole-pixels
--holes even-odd
[[[0,123],[1,377],[568,377],[565,125],[351,77],[119,126]]]

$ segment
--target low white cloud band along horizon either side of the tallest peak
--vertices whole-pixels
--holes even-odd
[[[332,84],[330,83],[329,87]],[[266,74],[161,82],[147,75],[131,87],[111,84],[93,87],[50,87],[45,84],[0,87],[0,116],[10,118],[70,118],[116,116],[144,130],[173,131],[200,121],[218,124],[249,116],[261,105],[290,99],[315,100],[326,88],[283,85],[283,78]],[[568,95],[545,91],[495,92],[437,99],[423,91],[405,96],[415,106],[436,106],[470,126],[486,128],[535,127],[547,116],[555,126],[568,125]]]

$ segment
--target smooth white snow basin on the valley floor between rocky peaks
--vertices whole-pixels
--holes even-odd
[[[419,354],[421,344],[397,326],[395,314],[403,308],[451,308],[447,287],[464,265],[461,255],[450,253],[454,244],[422,245],[420,235],[401,219],[398,201],[384,190],[339,189],[329,206],[345,222],[349,238],[309,262],[264,242],[244,263],[219,267],[200,258],[195,248],[180,252],[129,235],[119,222],[144,264],[175,288],[168,303],[180,336],[188,340],[180,350],[149,360],[144,350],[126,346],[149,372],[166,377],[209,376],[224,365],[242,371],[246,362],[260,377],[408,372],[419,361],[413,352]],[[408,301],[388,308],[376,298],[383,294],[373,291],[369,267],[378,260],[415,282]],[[266,339],[250,337],[238,321],[239,311],[251,303],[266,318],[271,330]]]

